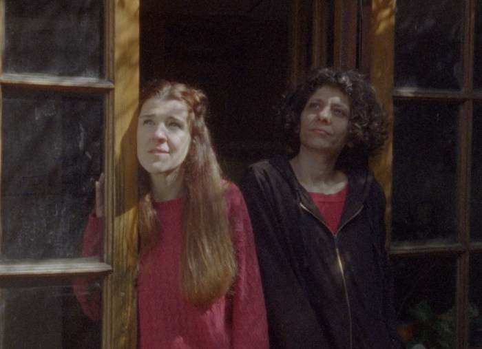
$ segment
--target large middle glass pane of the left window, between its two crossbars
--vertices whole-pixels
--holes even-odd
[[[80,256],[103,97],[4,88],[1,127],[1,260]]]

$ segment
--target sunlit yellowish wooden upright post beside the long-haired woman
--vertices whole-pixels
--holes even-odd
[[[103,288],[103,348],[137,346],[137,161],[139,1],[107,1],[105,260],[113,272]]]

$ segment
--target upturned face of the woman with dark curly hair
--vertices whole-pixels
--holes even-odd
[[[300,151],[338,155],[346,144],[350,101],[336,87],[324,85],[308,98],[300,117]]]

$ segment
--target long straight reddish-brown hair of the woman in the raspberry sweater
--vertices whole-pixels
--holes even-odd
[[[205,118],[207,96],[182,83],[154,81],[140,94],[138,111],[149,98],[185,103],[191,145],[182,164],[182,239],[180,289],[193,306],[207,307],[229,292],[238,265],[224,199],[225,187],[211,146]],[[160,240],[162,226],[152,205],[149,173],[139,166],[139,253],[149,252]]]

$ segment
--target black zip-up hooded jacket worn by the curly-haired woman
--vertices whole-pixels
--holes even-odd
[[[348,176],[337,235],[289,159],[251,166],[241,184],[266,299],[271,348],[403,348],[385,244],[385,196],[370,171]]]

